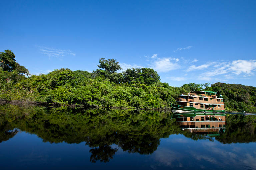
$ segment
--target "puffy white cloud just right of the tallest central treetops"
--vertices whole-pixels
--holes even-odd
[[[173,62],[172,60],[176,62]],[[153,69],[158,72],[167,72],[179,68],[177,60],[173,58],[158,58],[158,60],[154,60],[152,64]]]

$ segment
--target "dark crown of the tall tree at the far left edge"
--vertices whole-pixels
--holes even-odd
[[[16,68],[15,55],[9,49],[6,49],[4,51],[5,52],[0,52],[1,68],[4,71],[10,72],[10,71],[12,71],[12,70],[14,70]]]

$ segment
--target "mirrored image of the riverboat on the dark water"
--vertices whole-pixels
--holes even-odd
[[[174,114],[172,119],[176,119],[177,125],[183,130],[189,129],[191,133],[219,135],[226,130],[225,114],[204,114],[186,113]]]

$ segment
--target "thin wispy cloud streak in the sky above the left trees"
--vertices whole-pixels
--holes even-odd
[[[45,46],[37,46],[42,54],[45,54],[49,57],[61,57],[61,56],[67,56],[67,55],[73,55],[75,56],[76,53],[71,50],[63,50],[63,49],[55,49],[55,48],[49,48]]]

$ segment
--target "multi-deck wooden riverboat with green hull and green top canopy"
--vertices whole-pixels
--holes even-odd
[[[173,112],[224,113],[223,98],[213,91],[192,91],[178,96],[177,104],[171,104]]]

